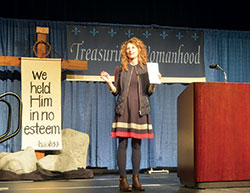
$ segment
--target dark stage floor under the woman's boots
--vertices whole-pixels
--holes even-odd
[[[131,183],[130,175],[128,175]],[[249,188],[194,189],[180,184],[175,172],[169,174],[141,174],[145,193],[249,193]],[[0,182],[0,192],[8,193],[116,193],[118,175],[98,175],[94,179],[56,181]]]

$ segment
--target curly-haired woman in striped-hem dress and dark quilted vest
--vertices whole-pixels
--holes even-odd
[[[101,72],[101,78],[108,83],[110,91],[118,95],[111,137],[119,139],[119,187],[127,192],[132,191],[132,188],[144,191],[139,182],[141,139],[154,137],[148,96],[155,91],[156,85],[149,83],[147,61],[146,46],[140,39],[133,37],[121,46],[121,65],[115,69],[114,84],[107,72]],[[128,138],[132,138],[132,188],[126,177]]]

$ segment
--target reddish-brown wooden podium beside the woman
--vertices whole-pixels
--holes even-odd
[[[178,176],[192,187],[250,186],[250,84],[192,83],[180,94]]]

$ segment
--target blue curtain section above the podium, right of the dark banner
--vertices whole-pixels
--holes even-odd
[[[208,82],[224,81],[223,72],[210,64],[220,65],[228,82],[250,82],[250,32],[204,30],[204,45]]]

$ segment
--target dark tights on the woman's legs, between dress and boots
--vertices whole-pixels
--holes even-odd
[[[119,147],[117,151],[117,162],[121,176],[126,175],[126,157],[127,157],[128,138],[119,138]],[[141,163],[141,139],[132,138],[132,166],[133,174],[139,174]]]

